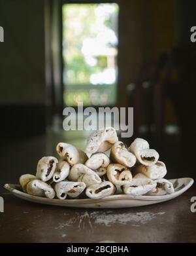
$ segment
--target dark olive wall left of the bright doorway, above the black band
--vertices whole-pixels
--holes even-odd
[[[1,0],[1,104],[44,103],[44,1]]]

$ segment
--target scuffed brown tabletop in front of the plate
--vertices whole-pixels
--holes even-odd
[[[168,202],[126,209],[46,206],[3,193],[0,242],[196,242],[189,189]]]

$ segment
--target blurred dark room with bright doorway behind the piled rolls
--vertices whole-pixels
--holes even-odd
[[[65,132],[63,108],[134,107],[133,137],[168,178],[196,177],[195,0],[0,0],[1,188],[35,173]]]

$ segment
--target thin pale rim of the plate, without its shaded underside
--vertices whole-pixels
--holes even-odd
[[[8,191],[10,191],[12,194],[14,195],[18,195],[18,196],[23,196],[23,199],[25,200],[25,198],[27,199],[34,199],[36,202],[41,202],[43,203],[62,203],[63,204],[90,204],[90,203],[98,203],[98,202],[105,202],[108,200],[119,200],[119,199],[123,199],[123,200],[144,200],[144,201],[162,201],[162,200],[168,200],[171,198],[174,198],[176,196],[178,196],[178,194],[182,194],[183,192],[187,191],[189,189],[189,187],[191,187],[191,185],[193,185],[193,178],[191,177],[182,177],[182,178],[176,178],[178,180],[180,179],[187,179],[188,183],[179,191],[174,192],[173,194],[166,194],[163,196],[130,196],[128,194],[113,194],[111,196],[106,196],[105,198],[82,198],[82,199],[49,199],[49,198],[44,198],[41,196],[33,196],[31,194],[27,194],[23,191],[20,191],[18,189],[14,189],[14,187],[16,186],[20,186],[20,185],[15,185],[15,184],[10,184],[7,183],[4,185],[4,188],[7,189]],[[169,179],[169,181],[174,181],[176,179]],[[25,197],[25,198],[24,198]],[[20,197],[21,198],[21,197]],[[33,202],[35,202],[33,201]],[[44,202],[43,202],[44,201]]]

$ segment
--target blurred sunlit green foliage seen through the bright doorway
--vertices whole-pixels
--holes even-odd
[[[109,10],[109,7],[113,7],[113,9],[110,8]],[[103,8],[107,8],[108,13],[105,16],[97,15],[100,8],[102,8],[100,13],[103,14]],[[107,56],[106,54],[92,55],[92,52],[96,52],[96,48],[90,48],[90,54],[85,55],[84,41],[86,39],[95,40],[100,31],[106,31],[106,35],[107,28],[112,29],[117,35],[117,18],[118,5],[115,4],[63,5],[63,61],[65,66],[63,78],[66,88],[64,100],[67,105],[76,105],[76,101],[80,99],[84,101],[84,105],[96,105],[96,100],[94,102],[90,100],[90,88],[95,87],[90,86],[90,77],[92,74],[101,73],[107,68]],[[105,45],[106,49],[112,47],[114,48],[108,43]],[[87,84],[90,88],[84,88]],[[105,88],[107,86],[95,89],[97,97],[103,98],[103,104],[106,101],[106,103],[114,102],[115,84],[111,84],[108,91]],[[99,105],[99,101],[97,104]]]

